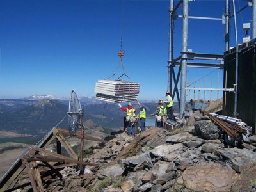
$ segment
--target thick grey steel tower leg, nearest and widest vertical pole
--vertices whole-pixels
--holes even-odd
[[[183,0],[182,20],[182,59],[181,59],[181,83],[180,83],[180,119],[183,116],[186,102],[186,78],[187,78],[187,54],[188,51],[188,0]]]

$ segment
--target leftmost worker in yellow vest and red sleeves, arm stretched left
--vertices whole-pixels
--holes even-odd
[[[135,126],[134,121],[136,117],[136,109],[132,108],[131,102],[128,103],[127,108],[122,107],[121,104],[118,104],[118,106],[127,113],[126,115],[126,122],[127,122],[127,131],[129,135],[135,136]],[[132,124],[132,132],[131,132],[131,124]]]

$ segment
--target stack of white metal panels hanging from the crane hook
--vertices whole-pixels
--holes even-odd
[[[94,92],[97,100],[111,103],[138,100],[140,84],[129,81],[98,80]]]

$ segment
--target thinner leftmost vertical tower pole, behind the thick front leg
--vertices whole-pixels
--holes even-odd
[[[173,60],[173,1],[170,0],[169,16],[169,56],[168,56],[168,90],[172,93],[172,60]]]

